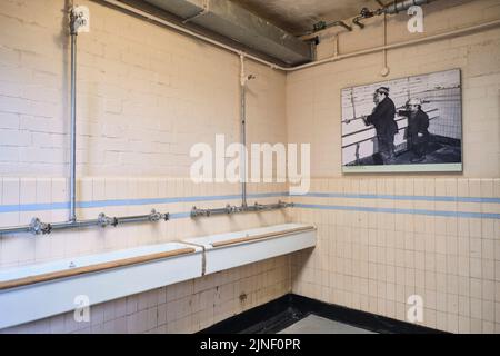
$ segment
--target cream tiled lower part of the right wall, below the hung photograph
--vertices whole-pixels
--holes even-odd
[[[500,179],[314,179],[311,190],[340,197],[293,198],[336,207],[292,210],[293,220],[316,224],[319,234],[313,251],[292,259],[294,293],[401,320],[407,320],[408,298],[419,295],[424,326],[500,333]],[[353,192],[399,198],[344,196]],[[460,199],[438,201],[446,197]],[[468,202],[467,197],[497,202]],[[362,211],[367,207],[430,211]]]

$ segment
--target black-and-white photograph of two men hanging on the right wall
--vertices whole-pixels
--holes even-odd
[[[343,172],[462,171],[460,70],[342,89]]]

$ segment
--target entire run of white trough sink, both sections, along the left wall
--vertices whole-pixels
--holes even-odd
[[[283,224],[0,271],[0,329],[316,245],[316,228]]]

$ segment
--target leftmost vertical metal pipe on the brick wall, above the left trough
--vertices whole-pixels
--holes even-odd
[[[70,126],[70,221],[77,221],[77,29],[73,12],[71,31],[71,126]]]

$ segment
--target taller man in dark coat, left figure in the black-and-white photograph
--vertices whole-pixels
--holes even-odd
[[[364,125],[373,125],[377,131],[379,152],[384,165],[390,165],[394,160],[394,135],[398,132],[396,123],[396,106],[389,98],[389,88],[380,87],[373,95],[376,107],[373,112],[363,117]]]

